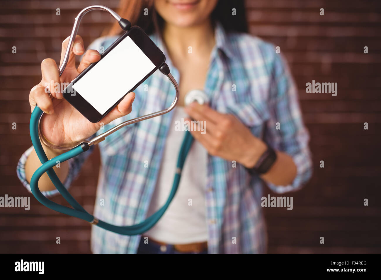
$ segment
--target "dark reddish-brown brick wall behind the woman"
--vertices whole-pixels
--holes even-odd
[[[0,196],[27,196],[15,170],[29,138],[30,88],[40,62],[59,61],[61,42],[83,7],[115,0],[2,1],[0,10]],[[61,9],[61,16],[56,15]],[[320,8],[325,15],[320,16]],[[248,0],[251,34],[280,46],[299,88],[311,134],[314,175],[293,195],[293,210],[266,209],[269,253],[380,253],[381,2]],[[83,19],[85,45],[113,22],[105,12]],[[16,46],[17,54],[12,54]],[[363,48],[368,46],[369,53]],[[337,82],[338,95],[305,92],[307,82]],[[17,129],[12,130],[12,123]],[[369,123],[369,130],[363,123]],[[324,160],[325,168],[319,168]],[[87,160],[70,192],[92,211],[99,152]],[[268,190],[265,194],[271,194]],[[272,194],[275,195],[275,194]],[[369,206],[363,206],[368,198]],[[61,197],[54,202],[67,205]],[[89,253],[90,226],[48,210],[0,208],[0,253]],[[56,244],[56,237],[61,244]],[[325,244],[319,238],[325,238]]]

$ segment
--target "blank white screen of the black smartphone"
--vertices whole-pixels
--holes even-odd
[[[154,68],[127,36],[72,87],[103,115]]]

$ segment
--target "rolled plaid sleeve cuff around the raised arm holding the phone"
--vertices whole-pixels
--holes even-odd
[[[72,181],[75,178],[77,178],[78,173],[79,173],[79,171],[82,168],[83,162],[85,162],[86,158],[91,154],[93,149],[94,149],[94,147],[90,146],[90,149],[87,152],[84,152],[82,154],[79,154],[77,157],[70,158],[69,160],[67,160],[67,162],[69,163],[69,173],[67,174],[67,177],[66,177],[65,181],[63,182],[63,184],[66,187],[66,189],[69,189],[70,184],[72,183]],[[30,155],[30,153],[32,151],[33,151],[33,146],[30,147],[29,149],[27,149],[24,152],[24,154],[21,155],[21,158],[20,158],[20,160],[19,160],[19,162],[17,164],[17,176],[20,179],[20,181],[22,182],[22,184],[24,185],[24,187],[26,187],[26,189],[29,192],[32,192],[32,191],[30,190],[30,184],[29,184],[29,182],[26,180],[26,176],[25,176],[25,163],[26,163],[26,160],[27,160],[28,156]],[[41,193],[45,197],[52,197],[52,196],[54,196],[56,194],[59,194],[59,191],[57,189],[54,189],[54,190],[44,191],[44,192],[41,192]]]

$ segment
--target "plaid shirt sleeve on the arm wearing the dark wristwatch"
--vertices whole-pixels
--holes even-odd
[[[276,193],[295,191],[303,187],[312,176],[312,155],[297,88],[287,63],[280,54],[275,54],[270,88],[270,121],[266,127],[270,138],[268,143],[293,158],[297,173],[290,185],[277,186],[267,182],[267,186]]]

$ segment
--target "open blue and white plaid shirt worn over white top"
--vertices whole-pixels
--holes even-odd
[[[173,77],[179,72],[172,65],[157,35],[151,36],[166,55]],[[227,34],[221,24],[215,28],[216,45],[210,58],[204,91],[210,106],[234,114],[258,138],[274,149],[293,157],[297,175],[289,186],[267,186],[277,193],[297,190],[312,174],[309,134],[303,125],[297,90],[287,65],[275,46],[248,34]],[[116,37],[103,37],[90,48],[106,49]],[[133,67],[133,66],[126,66]],[[107,70],[107,69],[106,69]],[[148,91],[147,91],[148,86]],[[106,125],[100,134],[122,121],[170,106],[175,90],[165,75],[156,71],[136,90],[131,114]],[[160,117],[130,125],[99,143],[101,171],[94,216],[109,223],[132,225],[146,218],[154,192],[172,111]],[[276,129],[280,123],[280,129]],[[31,149],[22,155],[18,176],[29,190],[24,164]],[[90,152],[69,160],[70,186]],[[145,162],[149,168],[145,167]],[[197,164],[197,163],[194,163]],[[266,225],[261,209],[264,182],[245,168],[223,158],[208,155],[205,185],[209,253],[265,253]],[[197,174],[195,174],[197,176]],[[45,192],[46,196],[57,190]],[[104,199],[104,205],[100,200]],[[144,234],[143,234],[144,236]],[[136,253],[141,235],[123,236],[92,227],[94,253]],[[235,240],[235,242],[234,242]]]

